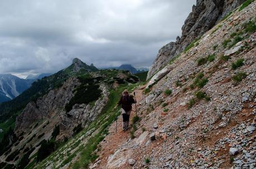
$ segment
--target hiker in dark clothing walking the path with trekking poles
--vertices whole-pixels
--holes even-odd
[[[127,90],[124,90],[123,95],[118,102],[118,106],[122,105],[121,114],[123,116],[123,131],[128,130],[129,128],[129,117],[132,111],[133,103],[136,103],[136,101],[133,99],[133,96],[129,95]]]

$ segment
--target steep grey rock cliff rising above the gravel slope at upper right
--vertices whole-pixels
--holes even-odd
[[[197,0],[196,6],[192,7],[192,12],[182,26],[182,36],[177,37],[176,42],[170,42],[158,51],[157,58],[149,69],[147,79],[166,66],[170,59],[184,51],[196,37],[202,36],[244,1]]]

